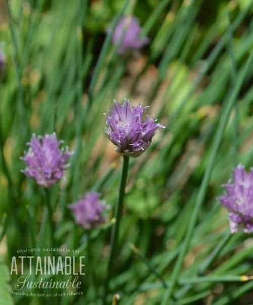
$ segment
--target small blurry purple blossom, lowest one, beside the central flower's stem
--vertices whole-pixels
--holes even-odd
[[[103,212],[107,206],[99,197],[100,194],[96,192],[88,192],[76,203],[68,206],[73,211],[78,225],[85,229],[94,229],[105,222]]]

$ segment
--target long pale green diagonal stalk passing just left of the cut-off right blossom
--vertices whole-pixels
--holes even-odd
[[[210,152],[208,164],[206,166],[204,177],[202,179],[202,183],[201,183],[201,186],[200,186],[200,189],[199,189],[199,192],[198,192],[198,196],[197,196],[197,199],[196,199],[196,204],[194,206],[192,215],[190,217],[188,230],[187,230],[184,242],[183,242],[182,250],[179,254],[179,257],[177,259],[175,268],[173,269],[173,272],[172,272],[171,285],[164,293],[164,297],[163,297],[163,300],[162,300],[162,305],[166,305],[166,304],[171,303],[171,297],[172,297],[172,294],[174,292],[174,288],[176,286],[178,276],[181,272],[184,257],[187,253],[187,250],[188,250],[190,242],[191,242],[192,233],[193,233],[193,230],[195,228],[197,218],[198,218],[198,212],[199,212],[199,210],[202,206],[202,203],[204,201],[204,198],[205,198],[206,190],[207,190],[207,187],[208,187],[208,183],[209,183],[209,180],[210,180],[212,169],[214,168],[216,155],[217,155],[218,149],[220,147],[220,144],[221,144],[221,141],[222,141],[222,138],[223,138],[223,134],[225,132],[227,121],[228,121],[228,118],[230,116],[232,107],[234,106],[234,103],[235,103],[235,100],[236,100],[237,95],[239,93],[239,90],[241,89],[243,80],[244,80],[245,75],[247,73],[248,67],[250,66],[252,58],[253,58],[253,53],[250,54],[250,57],[248,58],[246,64],[242,68],[242,72],[239,75],[238,81],[235,85],[235,89],[234,89],[232,95],[230,96],[230,99],[228,100],[227,104],[225,105],[224,111],[221,115],[219,126],[218,126],[218,129],[217,129],[217,132],[216,132],[216,135],[215,135],[215,139],[214,139],[214,142],[213,142],[213,146],[212,146],[212,149],[211,149],[211,152]]]

